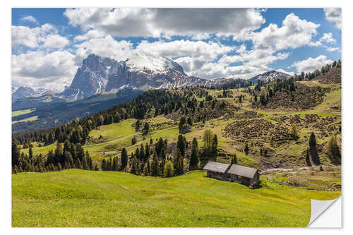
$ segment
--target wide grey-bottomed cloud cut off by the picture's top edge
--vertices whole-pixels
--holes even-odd
[[[71,8],[73,26],[119,37],[170,35],[242,35],[265,23],[252,8]]]

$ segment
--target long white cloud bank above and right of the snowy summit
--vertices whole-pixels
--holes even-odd
[[[269,48],[247,51],[244,44],[229,47],[219,42],[189,40],[143,41],[138,44],[136,51],[172,57],[186,73],[201,78],[251,78],[270,70],[268,64],[286,59],[289,55],[276,53],[274,49]],[[218,60],[220,56],[222,57]],[[238,62],[241,62],[241,65],[232,65]]]

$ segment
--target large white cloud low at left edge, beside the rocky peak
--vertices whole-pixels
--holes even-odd
[[[11,56],[13,85],[32,88],[64,89],[70,85],[76,69],[74,55],[69,52],[27,52]]]

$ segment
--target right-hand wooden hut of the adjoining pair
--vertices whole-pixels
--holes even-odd
[[[232,164],[232,167],[227,171],[227,174],[230,181],[243,183],[249,186],[253,186],[260,181],[258,169],[243,167],[237,164]]]

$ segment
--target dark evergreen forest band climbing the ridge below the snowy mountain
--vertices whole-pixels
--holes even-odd
[[[184,88],[183,90],[150,90],[130,102],[118,104],[97,114],[85,116],[82,119],[71,121],[65,125],[25,131],[23,133],[13,133],[12,141],[16,145],[25,145],[24,147],[28,147],[28,144],[32,142],[40,142],[48,145],[55,141],[64,143],[65,140],[69,140],[74,144],[80,143],[84,145],[88,134],[93,129],[102,125],[118,123],[129,118],[145,119],[146,114],[151,110],[154,111],[154,116],[160,114],[167,115],[179,109],[181,109],[181,114],[183,115],[193,114],[196,107],[203,107],[203,103],[198,103],[196,100],[196,93],[199,95],[208,95],[208,92],[195,87]],[[215,107],[216,102],[212,103],[213,107]]]

